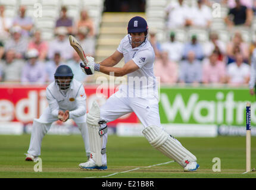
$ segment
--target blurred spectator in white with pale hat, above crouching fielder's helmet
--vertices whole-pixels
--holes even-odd
[[[61,58],[68,60],[72,58],[73,47],[70,46],[67,29],[58,27],[56,30],[57,38],[49,42],[48,58],[53,59],[55,52],[60,52]]]

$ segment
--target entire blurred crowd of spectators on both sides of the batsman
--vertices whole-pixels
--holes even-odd
[[[229,8],[224,18],[228,29],[251,27],[256,12],[254,0],[198,0],[194,7],[188,7],[183,0],[171,2],[166,7],[168,40],[158,42],[157,31],[149,29],[149,42],[156,54],[155,75],[161,83],[248,84],[255,42],[244,42],[241,33],[236,31],[228,43],[221,42],[214,32],[210,32],[204,44],[199,42],[197,34],[182,43],[172,31],[191,26],[207,30],[213,19],[213,2]],[[80,12],[79,20],[73,20],[67,16],[67,7],[62,7],[55,23],[54,40],[49,42],[35,29],[33,19],[26,16],[26,6],[21,5],[13,19],[5,17],[4,11],[4,5],[0,5],[0,82],[50,83],[61,64],[69,65],[77,80],[89,81],[67,37],[68,34],[76,36],[86,56],[95,56],[95,29],[86,9]]]

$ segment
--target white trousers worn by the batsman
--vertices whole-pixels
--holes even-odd
[[[122,96],[120,91],[113,94],[107,102],[101,106],[101,119],[107,123],[120,118],[127,113],[135,112],[144,128],[155,125],[161,126],[158,109],[158,99],[155,96],[150,97],[126,97]],[[102,124],[104,128],[106,124]],[[107,134],[104,134],[102,149],[107,146]],[[107,149],[106,149],[107,150]],[[107,154],[102,155],[102,164],[107,165]]]

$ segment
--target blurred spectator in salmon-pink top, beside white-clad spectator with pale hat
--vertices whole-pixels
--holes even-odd
[[[36,30],[33,39],[29,42],[28,49],[36,49],[39,52],[39,60],[45,61],[48,53],[48,42],[42,41],[41,32]]]

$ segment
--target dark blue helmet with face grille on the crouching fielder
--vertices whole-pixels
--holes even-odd
[[[73,76],[74,74],[69,66],[60,65],[54,74],[55,83],[58,84],[61,90],[67,90],[70,87]]]

